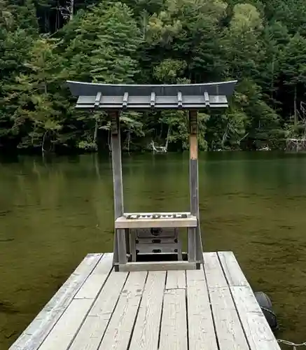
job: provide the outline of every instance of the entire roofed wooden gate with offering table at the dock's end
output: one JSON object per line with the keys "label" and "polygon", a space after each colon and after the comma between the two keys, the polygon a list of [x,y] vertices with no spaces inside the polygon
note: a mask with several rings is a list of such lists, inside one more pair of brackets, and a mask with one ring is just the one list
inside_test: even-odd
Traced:
{"label": "entire roofed wooden gate with offering table at the dock's end", "polygon": [[[76,109],[106,111],[111,118],[115,213],[113,266],[116,271],[200,268],[202,240],[197,167],[197,112],[227,108],[228,97],[232,95],[237,80],[183,85],[115,85],[78,81],[67,83],[71,94],[78,97]],[[189,113],[190,212],[126,213],[123,207],[120,111],[164,109],[187,110]],[[179,228],[188,230],[186,255],[181,252]],[[166,261],[163,253],[169,253],[172,258]]]}

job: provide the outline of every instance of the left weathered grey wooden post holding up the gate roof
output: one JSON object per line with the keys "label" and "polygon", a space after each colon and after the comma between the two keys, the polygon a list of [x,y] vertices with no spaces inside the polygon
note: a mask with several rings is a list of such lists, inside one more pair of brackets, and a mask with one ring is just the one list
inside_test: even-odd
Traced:
{"label": "left weathered grey wooden post holding up the gate roof", "polygon": [[[123,179],[121,166],[119,113],[111,112],[111,159],[113,165],[113,202],[115,220],[123,216]],[[125,230],[116,230],[113,241],[113,265],[127,262]]]}

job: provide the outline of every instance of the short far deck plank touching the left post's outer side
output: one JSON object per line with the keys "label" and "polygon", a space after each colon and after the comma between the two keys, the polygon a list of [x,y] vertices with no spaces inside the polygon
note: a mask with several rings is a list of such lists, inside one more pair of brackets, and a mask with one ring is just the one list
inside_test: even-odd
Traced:
{"label": "short far deck plank touching the left post's outer side", "polygon": [[88,276],[88,279],[83,286],[78,290],[74,299],[95,298],[109,276],[112,268],[113,253],[105,253],[90,276]]}

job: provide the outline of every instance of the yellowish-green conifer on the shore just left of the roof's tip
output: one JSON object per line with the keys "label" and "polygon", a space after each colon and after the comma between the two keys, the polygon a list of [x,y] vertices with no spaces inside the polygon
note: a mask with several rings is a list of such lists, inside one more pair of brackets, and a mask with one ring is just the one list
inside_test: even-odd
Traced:
{"label": "yellowish-green conifer on the shore just left of the roof's tip", "polygon": [[7,97],[15,109],[12,129],[22,138],[18,145],[21,148],[40,147],[42,151],[50,151],[62,127],[62,57],[55,52],[56,46],[55,39],[34,41],[29,60],[24,64],[27,71],[16,77],[13,91]]}

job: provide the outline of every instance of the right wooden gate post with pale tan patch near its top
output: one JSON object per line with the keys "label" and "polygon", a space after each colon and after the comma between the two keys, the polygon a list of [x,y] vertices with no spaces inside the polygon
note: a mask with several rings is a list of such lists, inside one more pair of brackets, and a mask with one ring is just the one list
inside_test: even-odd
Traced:
{"label": "right wooden gate post with pale tan patch near its top", "polygon": [[190,123],[190,213],[197,217],[197,228],[188,230],[188,260],[190,262],[202,260],[202,241],[200,237],[199,220],[199,185],[197,169],[197,111],[189,111]]}

